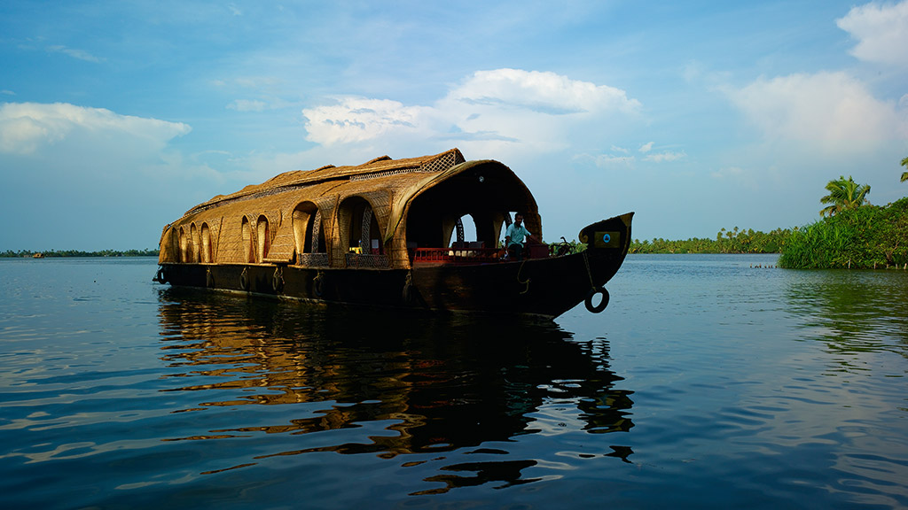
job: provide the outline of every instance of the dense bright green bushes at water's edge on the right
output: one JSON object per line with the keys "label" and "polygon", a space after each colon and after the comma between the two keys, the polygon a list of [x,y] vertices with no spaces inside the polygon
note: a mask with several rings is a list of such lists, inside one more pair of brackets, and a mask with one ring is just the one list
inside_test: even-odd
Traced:
{"label": "dense bright green bushes at water's edge on the right", "polygon": [[841,211],[803,229],[785,243],[780,267],[881,269],[908,264],[908,198],[885,207]]}

